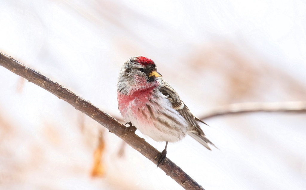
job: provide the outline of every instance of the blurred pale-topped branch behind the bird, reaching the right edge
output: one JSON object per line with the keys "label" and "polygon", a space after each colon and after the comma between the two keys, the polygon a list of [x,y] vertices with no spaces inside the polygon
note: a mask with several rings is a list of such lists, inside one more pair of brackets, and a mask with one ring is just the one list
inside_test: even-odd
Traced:
{"label": "blurred pale-topped branch behind the bird, reaching the right edge", "polygon": [[200,117],[205,120],[212,117],[250,113],[250,112],[306,112],[306,102],[248,102],[219,106]]}

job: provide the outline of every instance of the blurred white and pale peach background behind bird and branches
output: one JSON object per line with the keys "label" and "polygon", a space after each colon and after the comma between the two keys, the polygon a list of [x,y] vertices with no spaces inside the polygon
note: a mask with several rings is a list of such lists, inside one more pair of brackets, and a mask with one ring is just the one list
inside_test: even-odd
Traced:
{"label": "blurred white and pale peach background behind bird and branches", "polygon": [[[230,103],[306,100],[306,3],[298,0],[0,0],[0,51],[117,118],[118,72],[136,55],[153,59],[198,117]],[[190,137],[167,149],[203,188],[305,189],[306,114],[205,122],[220,150]],[[103,126],[0,67],[0,189],[182,189],[129,146],[118,156],[121,147]]]}

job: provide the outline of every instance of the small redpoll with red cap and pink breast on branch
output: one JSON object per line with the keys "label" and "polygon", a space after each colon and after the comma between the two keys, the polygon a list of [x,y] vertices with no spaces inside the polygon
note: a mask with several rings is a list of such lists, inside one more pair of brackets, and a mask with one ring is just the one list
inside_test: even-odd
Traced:
{"label": "small redpoll with red cap and pink breast on branch", "polygon": [[[128,131],[139,129],[158,142],[166,142],[165,149],[156,157],[157,166],[164,163],[168,142],[177,142],[186,134],[211,150],[208,140],[195,117],[177,92],[163,79],[155,63],[146,57],[129,58],[121,68],[118,84],[118,109],[130,124]],[[136,128],[135,128],[136,127]]]}

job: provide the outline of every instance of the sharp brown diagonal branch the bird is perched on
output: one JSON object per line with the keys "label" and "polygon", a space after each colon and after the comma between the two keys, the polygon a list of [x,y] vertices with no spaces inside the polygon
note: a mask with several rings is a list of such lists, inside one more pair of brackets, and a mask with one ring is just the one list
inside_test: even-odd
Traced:
{"label": "sharp brown diagonal branch the bird is perched on", "polygon": [[[84,100],[80,96],[76,95],[72,91],[63,87],[50,78],[47,78],[43,74],[19,63],[12,57],[9,57],[0,52],[0,65],[10,70],[11,72],[24,77],[29,82],[32,82],[45,90],[56,95],[59,99],[68,102],[70,105],[85,113],[99,124],[106,127],[111,133],[114,133],[125,142],[127,142],[133,149],[140,152],[147,159],[151,160],[154,164],[157,164],[155,158],[160,154],[153,146],[148,144],[143,138],[140,138],[135,133],[129,133],[127,135],[122,135],[125,130],[125,126],[111,117],[109,114],[103,112],[96,106],[92,105],[87,100]],[[159,167],[172,177],[178,184],[183,188],[189,190],[203,190],[203,188],[189,177],[180,167],[170,161],[168,158],[165,160],[164,165],[159,165]]]}

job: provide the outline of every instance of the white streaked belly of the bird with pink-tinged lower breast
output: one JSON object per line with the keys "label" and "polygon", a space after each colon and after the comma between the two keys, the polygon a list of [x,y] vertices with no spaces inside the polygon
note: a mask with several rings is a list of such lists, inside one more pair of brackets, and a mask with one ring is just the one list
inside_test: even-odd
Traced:
{"label": "white streaked belly of the bird with pink-tinged lower breast", "polygon": [[177,142],[187,134],[188,124],[169,102],[165,99],[161,101],[164,101],[162,106],[154,102],[142,105],[131,102],[124,119],[155,141]]}

